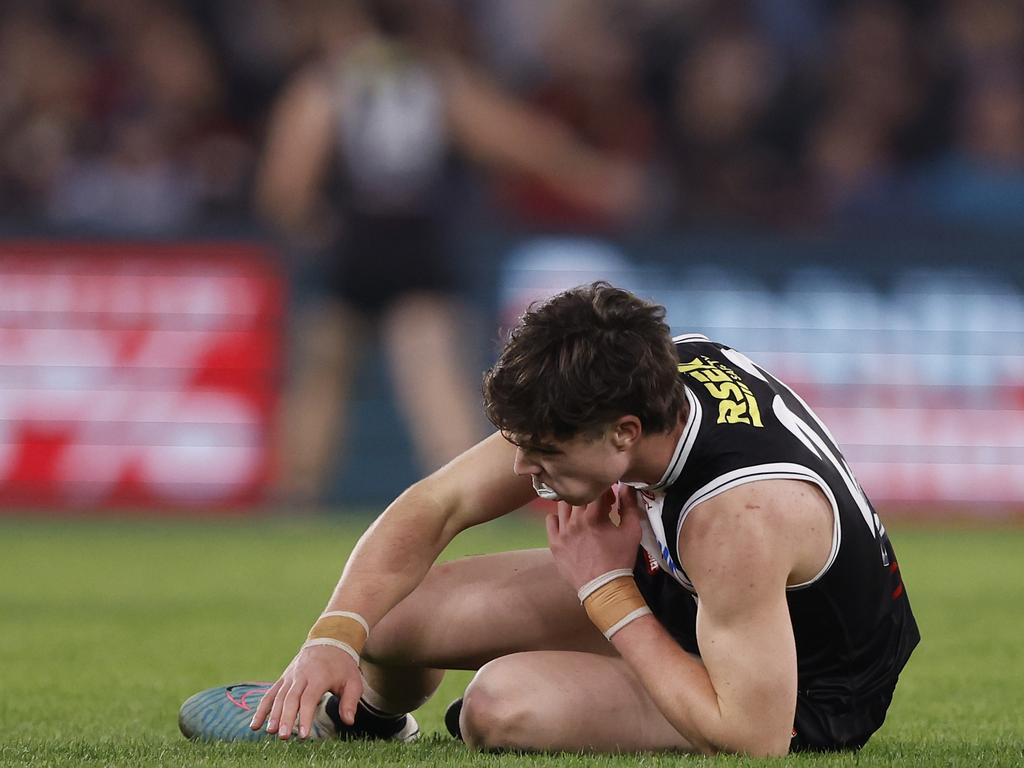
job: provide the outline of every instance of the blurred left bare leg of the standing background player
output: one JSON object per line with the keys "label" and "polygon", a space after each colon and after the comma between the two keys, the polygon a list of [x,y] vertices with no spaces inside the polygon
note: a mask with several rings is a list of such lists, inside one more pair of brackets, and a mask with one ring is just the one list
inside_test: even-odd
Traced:
{"label": "blurred left bare leg of the standing background player", "polygon": [[344,434],[348,395],[365,334],[337,302],[304,311],[295,333],[295,371],[278,426],[279,488],[287,500],[318,501]]}

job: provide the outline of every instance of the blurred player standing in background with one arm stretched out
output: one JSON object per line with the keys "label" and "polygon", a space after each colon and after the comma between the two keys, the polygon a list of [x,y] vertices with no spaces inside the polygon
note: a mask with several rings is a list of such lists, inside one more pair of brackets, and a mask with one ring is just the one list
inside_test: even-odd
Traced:
{"label": "blurred player standing in background with one arm stretched out", "polygon": [[[325,489],[347,392],[368,333],[379,331],[420,463],[434,469],[479,437],[441,206],[452,154],[534,174],[612,214],[639,187],[490,87],[429,38],[421,4],[327,6],[327,53],[274,112],[258,180],[261,209],[296,240],[335,217],[330,301],[299,321],[298,360],[281,424],[286,498]],[[329,169],[343,191],[330,197]]]}

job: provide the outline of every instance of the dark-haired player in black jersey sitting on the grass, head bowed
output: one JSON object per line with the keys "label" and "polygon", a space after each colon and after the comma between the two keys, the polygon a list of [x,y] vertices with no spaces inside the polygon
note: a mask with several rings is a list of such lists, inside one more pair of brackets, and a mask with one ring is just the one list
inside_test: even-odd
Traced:
{"label": "dark-haired player in black jersey sitting on the grass, head bowed", "polygon": [[[783,755],[882,725],[918,627],[793,390],[597,283],[527,311],[484,391],[500,432],[371,526],[252,729],[408,738],[450,668],[479,670],[446,721],[485,749]],[[550,550],[432,566],[535,495],[560,500]],[[230,694],[185,702],[182,731],[254,735]]]}

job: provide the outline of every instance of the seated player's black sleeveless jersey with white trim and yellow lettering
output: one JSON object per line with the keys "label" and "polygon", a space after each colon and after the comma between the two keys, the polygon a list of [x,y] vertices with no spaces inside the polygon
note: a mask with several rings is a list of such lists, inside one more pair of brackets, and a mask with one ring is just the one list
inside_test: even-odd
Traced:
{"label": "seated player's black sleeveless jersey with white trim and yellow lettering", "polygon": [[821,570],[787,588],[798,687],[837,710],[891,690],[920,635],[889,537],[836,440],[799,395],[750,358],[705,336],[675,342],[689,415],[660,481],[638,487],[649,523],[646,560],[664,572],[659,598],[645,590],[655,614],[684,647],[699,652],[698,596],[677,547],[686,516],[742,483],[810,482],[830,503],[835,524]]}

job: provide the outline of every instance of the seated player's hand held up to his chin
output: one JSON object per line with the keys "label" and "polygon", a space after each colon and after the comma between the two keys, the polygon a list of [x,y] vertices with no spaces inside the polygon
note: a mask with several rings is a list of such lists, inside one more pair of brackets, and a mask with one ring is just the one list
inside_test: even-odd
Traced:
{"label": "seated player's hand held up to his chin", "polygon": [[548,546],[558,572],[573,589],[617,568],[631,568],[640,546],[640,509],[633,488],[620,485],[618,525],[611,520],[613,488],[585,507],[558,502],[548,514]]}

